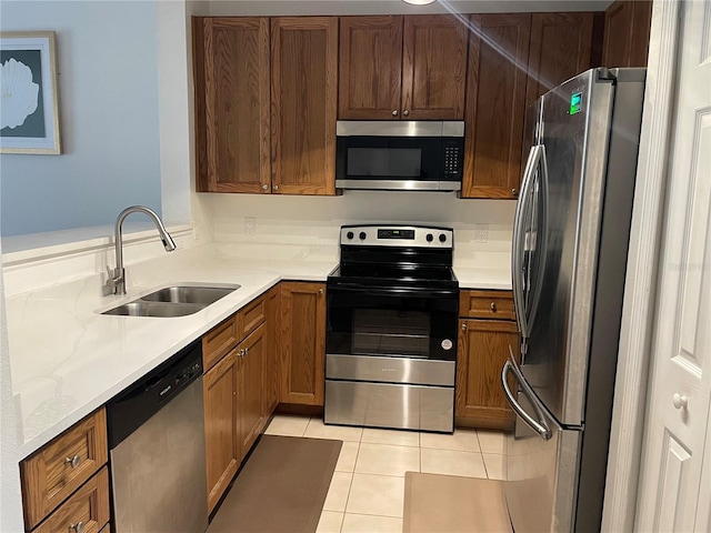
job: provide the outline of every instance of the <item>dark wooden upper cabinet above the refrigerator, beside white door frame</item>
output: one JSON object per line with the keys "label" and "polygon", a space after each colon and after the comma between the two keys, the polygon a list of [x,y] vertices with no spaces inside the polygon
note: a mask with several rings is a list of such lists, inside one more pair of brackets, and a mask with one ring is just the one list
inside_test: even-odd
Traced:
{"label": "dark wooden upper cabinet above the refrigerator, beside white door frame", "polygon": [[647,67],[651,1],[618,0],[604,12],[602,66]]}

